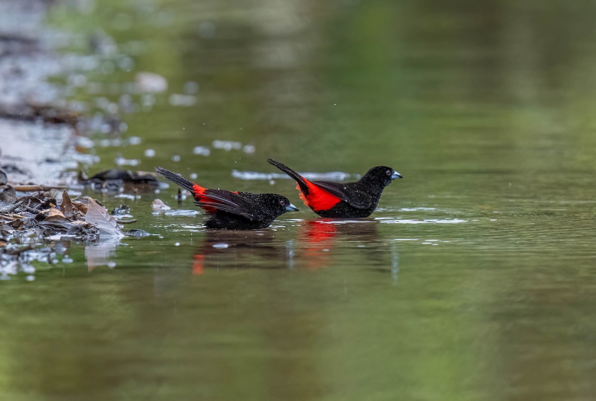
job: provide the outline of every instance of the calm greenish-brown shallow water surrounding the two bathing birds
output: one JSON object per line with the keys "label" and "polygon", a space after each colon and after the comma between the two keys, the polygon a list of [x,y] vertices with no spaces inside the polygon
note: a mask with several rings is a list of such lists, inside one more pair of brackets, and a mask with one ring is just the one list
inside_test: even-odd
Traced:
{"label": "calm greenish-brown shallow water surrounding the two bathing birds", "polygon": [[[89,169],[123,157],[297,206],[267,157],[404,179],[368,219],[300,207],[254,232],[152,215],[156,197],[193,209],[173,186],[99,195],[156,235],[65,243],[72,263],[0,284],[5,397],[592,399],[594,5],[220,3],[55,10],[62,27],[102,24],[123,53],[143,43],[130,72],[91,75],[101,85],[75,97],[122,102],[139,71],[169,85],[123,115],[141,143],[98,133]],[[194,104],[171,105],[185,82]]]}

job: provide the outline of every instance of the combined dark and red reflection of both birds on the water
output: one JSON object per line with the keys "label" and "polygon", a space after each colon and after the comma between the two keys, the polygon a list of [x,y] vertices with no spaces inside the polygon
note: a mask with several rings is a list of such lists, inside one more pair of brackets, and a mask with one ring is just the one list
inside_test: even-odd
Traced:
{"label": "combined dark and red reflection of both birds on the water", "polygon": [[[368,265],[383,265],[383,244],[373,219],[309,219],[296,240],[271,229],[207,230],[193,256],[193,274],[208,269],[322,269],[355,256]],[[286,235],[284,235],[286,234]],[[293,234],[293,233],[292,233]]]}

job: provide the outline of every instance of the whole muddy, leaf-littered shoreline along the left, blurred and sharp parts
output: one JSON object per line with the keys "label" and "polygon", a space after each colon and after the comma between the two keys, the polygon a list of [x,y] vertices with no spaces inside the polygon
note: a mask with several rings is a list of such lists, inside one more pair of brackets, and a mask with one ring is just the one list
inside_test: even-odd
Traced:
{"label": "whole muddy, leaf-littered shoreline along the left, blurred and sharp parts", "polygon": [[69,263],[69,241],[91,245],[92,265],[108,263],[123,237],[120,223],[131,222],[91,197],[71,201],[64,189],[77,185],[81,164],[94,159],[79,152],[90,142],[85,106],[49,81],[79,72],[82,56],[58,51],[68,36],[45,25],[48,7],[42,0],[0,2],[0,279],[35,279],[34,261]]}

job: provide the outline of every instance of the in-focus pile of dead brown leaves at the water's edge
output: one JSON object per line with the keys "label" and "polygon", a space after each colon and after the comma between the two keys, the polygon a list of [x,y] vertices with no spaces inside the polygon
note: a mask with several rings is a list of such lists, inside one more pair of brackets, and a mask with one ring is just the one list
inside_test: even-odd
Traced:
{"label": "in-focus pile of dead brown leaves at the water's edge", "polygon": [[52,188],[17,197],[6,173],[0,170],[0,279],[35,272],[33,260],[57,263],[55,248],[63,246],[58,241],[119,241],[124,236],[121,224],[136,220],[114,214],[118,216],[88,196],[71,200],[66,189],[60,192]]}

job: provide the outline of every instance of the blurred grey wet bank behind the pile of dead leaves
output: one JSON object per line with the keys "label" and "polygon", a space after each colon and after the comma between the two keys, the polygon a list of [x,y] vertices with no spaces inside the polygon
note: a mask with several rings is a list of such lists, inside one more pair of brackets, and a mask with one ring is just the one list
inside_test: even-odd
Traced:
{"label": "blurred grey wet bank behind the pile of dead leaves", "polygon": [[76,63],[57,51],[67,36],[45,26],[48,7],[43,0],[0,3],[0,168],[10,184],[73,184],[79,162],[92,162],[76,149],[82,107],[49,82]]}

